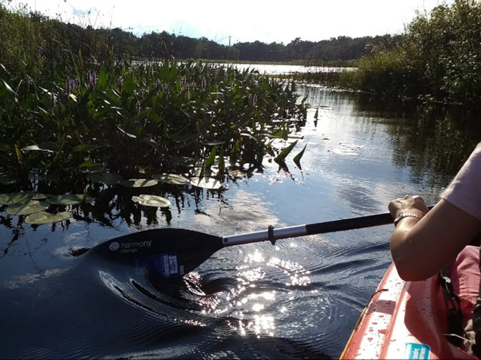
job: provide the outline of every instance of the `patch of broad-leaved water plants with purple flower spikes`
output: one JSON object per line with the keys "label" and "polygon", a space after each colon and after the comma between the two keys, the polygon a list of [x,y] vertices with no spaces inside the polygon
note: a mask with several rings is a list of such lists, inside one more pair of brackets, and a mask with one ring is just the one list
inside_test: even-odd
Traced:
{"label": "patch of broad-leaved water plants with purple flower spikes", "polygon": [[221,178],[236,164],[260,168],[273,151],[267,140],[287,139],[306,115],[292,82],[252,70],[170,61],[77,70],[43,86],[1,72],[0,160],[10,178],[175,172],[179,158],[202,176],[216,163]]}

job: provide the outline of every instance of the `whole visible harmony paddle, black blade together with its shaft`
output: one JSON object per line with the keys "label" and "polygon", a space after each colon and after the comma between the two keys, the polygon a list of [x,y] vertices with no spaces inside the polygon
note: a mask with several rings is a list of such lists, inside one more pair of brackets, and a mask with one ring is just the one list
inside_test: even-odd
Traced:
{"label": "whole visible harmony paddle, black blade together with its shaft", "polygon": [[260,241],[271,241],[274,244],[278,239],[368,228],[392,222],[391,215],[383,213],[287,228],[274,229],[269,226],[267,231],[227,237],[175,228],[154,229],[105,241],[92,248],[89,253],[92,256],[102,256],[108,261],[130,263],[135,267],[152,270],[162,278],[178,278],[192,272],[225,246]]}

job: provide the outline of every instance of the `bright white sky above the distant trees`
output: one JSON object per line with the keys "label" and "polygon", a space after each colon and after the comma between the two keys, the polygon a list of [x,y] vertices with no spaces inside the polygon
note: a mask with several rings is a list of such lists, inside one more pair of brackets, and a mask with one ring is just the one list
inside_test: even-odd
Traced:
{"label": "bright white sky above the distant trees", "polygon": [[228,45],[401,34],[416,11],[454,0],[12,0],[47,16],[136,35],[166,31]]}

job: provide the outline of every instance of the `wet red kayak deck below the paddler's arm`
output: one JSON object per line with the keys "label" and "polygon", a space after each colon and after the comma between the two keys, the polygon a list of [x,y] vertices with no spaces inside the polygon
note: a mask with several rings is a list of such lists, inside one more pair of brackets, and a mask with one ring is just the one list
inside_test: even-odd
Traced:
{"label": "wet red kayak deck below the paddler's arm", "polygon": [[438,277],[405,282],[393,264],[359,317],[341,359],[476,359],[452,345],[443,336],[448,332]]}

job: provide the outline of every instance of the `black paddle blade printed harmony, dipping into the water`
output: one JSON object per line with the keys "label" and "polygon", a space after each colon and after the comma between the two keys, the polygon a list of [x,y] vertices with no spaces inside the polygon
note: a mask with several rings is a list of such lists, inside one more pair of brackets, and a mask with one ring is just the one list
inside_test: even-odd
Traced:
{"label": "black paddle blade printed harmony, dipping into the water", "polygon": [[117,237],[91,248],[88,253],[144,269],[161,278],[179,278],[192,272],[222,247],[221,237],[165,228]]}

